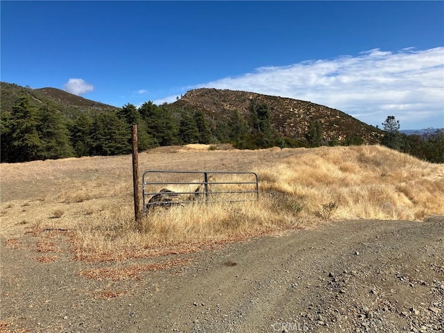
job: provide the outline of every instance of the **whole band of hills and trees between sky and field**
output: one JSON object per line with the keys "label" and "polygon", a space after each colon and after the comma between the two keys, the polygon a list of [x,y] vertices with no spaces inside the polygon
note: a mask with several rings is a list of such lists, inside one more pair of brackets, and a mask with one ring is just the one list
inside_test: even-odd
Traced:
{"label": "whole band of hills and trees between sky and field", "polygon": [[444,133],[402,135],[388,117],[384,130],[323,105],[246,92],[198,89],[175,103],[137,108],[96,103],[55,88],[1,84],[1,162],[121,155],[176,144],[230,143],[235,148],[377,144],[444,162]]}

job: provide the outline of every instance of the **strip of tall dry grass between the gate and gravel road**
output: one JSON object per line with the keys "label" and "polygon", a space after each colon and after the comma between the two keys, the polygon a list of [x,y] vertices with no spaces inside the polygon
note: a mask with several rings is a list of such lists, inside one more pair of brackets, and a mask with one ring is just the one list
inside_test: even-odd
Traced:
{"label": "strip of tall dry grass between the gate and gravel road", "polygon": [[73,238],[78,259],[110,260],[187,253],[289,228],[300,228],[298,203],[266,194],[246,203],[156,207],[136,225],[133,207],[119,205],[80,216]]}

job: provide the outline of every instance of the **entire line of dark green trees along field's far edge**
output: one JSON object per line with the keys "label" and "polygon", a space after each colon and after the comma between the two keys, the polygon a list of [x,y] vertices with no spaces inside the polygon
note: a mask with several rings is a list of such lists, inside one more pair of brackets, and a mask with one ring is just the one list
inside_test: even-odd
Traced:
{"label": "entire line of dark green trees along field's far edge", "polygon": [[[311,121],[303,140],[281,137],[271,126],[271,112],[266,103],[252,100],[248,114],[231,112],[225,121],[205,117],[196,110],[171,109],[151,101],[139,108],[127,104],[114,112],[103,111],[76,119],[43,105],[33,106],[27,96],[17,100],[11,112],[1,112],[1,162],[120,155],[131,151],[130,131],[138,126],[139,150],[175,144],[211,144],[230,142],[240,149],[280,147],[316,147],[359,145],[361,137],[325,141],[319,121]],[[382,144],[431,162],[444,162],[444,133],[403,135],[400,123],[389,116],[382,124]]]}

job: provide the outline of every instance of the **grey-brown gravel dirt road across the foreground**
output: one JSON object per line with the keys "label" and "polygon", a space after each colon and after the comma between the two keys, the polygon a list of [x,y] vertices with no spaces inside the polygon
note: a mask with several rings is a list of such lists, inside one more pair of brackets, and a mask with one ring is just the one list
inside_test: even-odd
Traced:
{"label": "grey-brown gravel dirt road across the foreground", "polygon": [[444,332],[443,217],[101,264],[35,238],[1,239],[4,332]]}

